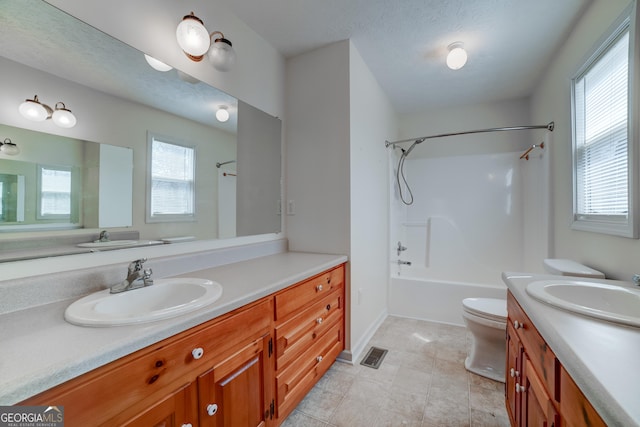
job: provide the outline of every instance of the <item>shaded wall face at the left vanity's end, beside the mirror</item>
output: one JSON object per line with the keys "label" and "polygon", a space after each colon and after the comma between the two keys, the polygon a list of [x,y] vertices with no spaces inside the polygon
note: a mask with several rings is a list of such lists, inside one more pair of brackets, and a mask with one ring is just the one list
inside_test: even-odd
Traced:
{"label": "shaded wall face at the left vanity's end, beside the mirror", "polygon": [[293,251],[349,253],[349,42],[287,61],[286,219]]}

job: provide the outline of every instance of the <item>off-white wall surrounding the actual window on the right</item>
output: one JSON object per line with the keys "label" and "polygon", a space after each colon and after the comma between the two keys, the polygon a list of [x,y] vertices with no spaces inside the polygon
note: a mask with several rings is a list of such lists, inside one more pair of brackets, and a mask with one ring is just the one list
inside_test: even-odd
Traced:
{"label": "off-white wall surrounding the actual window on the right", "polygon": [[[558,50],[532,96],[535,121],[554,120],[551,154],[553,255],[573,258],[604,272],[630,280],[640,271],[640,242],[598,233],[571,230],[571,78],[592,46],[629,4],[629,0],[594,1]],[[637,49],[637,47],[636,47]],[[635,142],[637,144],[637,141]]]}

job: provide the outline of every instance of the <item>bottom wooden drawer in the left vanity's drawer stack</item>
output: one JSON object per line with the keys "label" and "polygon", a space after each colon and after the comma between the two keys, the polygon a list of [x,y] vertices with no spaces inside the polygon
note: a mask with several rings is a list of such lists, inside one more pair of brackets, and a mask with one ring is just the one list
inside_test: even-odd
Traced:
{"label": "bottom wooden drawer in the left vanity's drawer stack", "polygon": [[293,410],[344,349],[343,332],[336,325],[276,376],[278,418]]}

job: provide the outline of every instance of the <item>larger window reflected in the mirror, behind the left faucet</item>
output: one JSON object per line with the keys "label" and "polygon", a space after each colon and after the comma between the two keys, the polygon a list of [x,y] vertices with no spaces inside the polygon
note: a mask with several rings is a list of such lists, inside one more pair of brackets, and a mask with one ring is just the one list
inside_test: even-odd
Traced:
{"label": "larger window reflected in the mirror, behind the left faucet", "polygon": [[149,163],[147,221],[195,219],[195,150],[150,135]]}

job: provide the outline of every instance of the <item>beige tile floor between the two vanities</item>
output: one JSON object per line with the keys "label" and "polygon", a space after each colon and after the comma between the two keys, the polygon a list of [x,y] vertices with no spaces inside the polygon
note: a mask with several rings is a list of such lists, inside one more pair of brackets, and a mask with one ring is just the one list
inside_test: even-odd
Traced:
{"label": "beige tile floor between the two vanities", "polygon": [[464,368],[469,340],[464,327],[389,316],[366,346],[389,350],[380,368],[336,362],[282,426],[509,426],[504,385]]}

